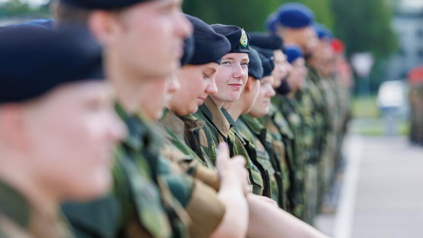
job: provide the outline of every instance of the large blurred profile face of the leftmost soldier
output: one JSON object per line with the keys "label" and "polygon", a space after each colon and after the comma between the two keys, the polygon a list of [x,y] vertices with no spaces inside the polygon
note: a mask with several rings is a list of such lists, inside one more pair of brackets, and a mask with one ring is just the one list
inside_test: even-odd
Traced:
{"label": "large blurred profile face of the leftmost soldier", "polygon": [[113,109],[107,82],[58,86],[29,102],[26,113],[28,163],[42,187],[62,199],[108,192],[114,145],[126,136],[126,127]]}

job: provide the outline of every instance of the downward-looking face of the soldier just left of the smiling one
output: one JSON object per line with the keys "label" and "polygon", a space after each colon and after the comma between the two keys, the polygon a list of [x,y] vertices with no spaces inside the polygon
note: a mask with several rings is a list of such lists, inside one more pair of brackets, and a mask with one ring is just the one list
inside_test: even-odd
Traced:
{"label": "downward-looking face of the soldier just left of the smiling one", "polygon": [[215,76],[219,65],[187,65],[178,74],[180,90],[175,92],[169,108],[179,116],[188,115],[198,110],[208,95],[217,93]]}

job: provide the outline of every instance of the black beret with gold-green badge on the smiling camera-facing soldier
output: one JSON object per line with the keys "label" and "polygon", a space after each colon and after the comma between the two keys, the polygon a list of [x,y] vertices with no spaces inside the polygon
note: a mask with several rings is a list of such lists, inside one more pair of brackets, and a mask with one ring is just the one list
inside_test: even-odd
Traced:
{"label": "black beret with gold-green badge on the smiling camera-facing soldier", "polygon": [[250,36],[244,29],[234,25],[213,24],[210,26],[229,40],[231,50],[228,53],[250,53]]}

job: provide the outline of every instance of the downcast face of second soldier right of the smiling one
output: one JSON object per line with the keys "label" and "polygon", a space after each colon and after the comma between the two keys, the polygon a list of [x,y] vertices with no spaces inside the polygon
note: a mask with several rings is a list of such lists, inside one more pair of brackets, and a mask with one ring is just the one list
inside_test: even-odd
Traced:
{"label": "downcast face of second soldier right of the smiling one", "polygon": [[276,95],[272,84],[273,76],[267,76],[260,80],[260,92],[250,111],[252,117],[258,118],[269,113],[270,99]]}

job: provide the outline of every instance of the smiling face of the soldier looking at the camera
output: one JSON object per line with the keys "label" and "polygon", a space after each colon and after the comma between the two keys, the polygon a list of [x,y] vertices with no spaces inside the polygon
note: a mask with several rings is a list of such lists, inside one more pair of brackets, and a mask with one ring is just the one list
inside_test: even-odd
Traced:
{"label": "smiling face of the soldier looking at the camera", "polygon": [[218,93],[213,96],[220,102],[236,102],[239,99],[248,78],[248,63],[246,53],[229,53],[223,56],[222,63],[216,74]]}

